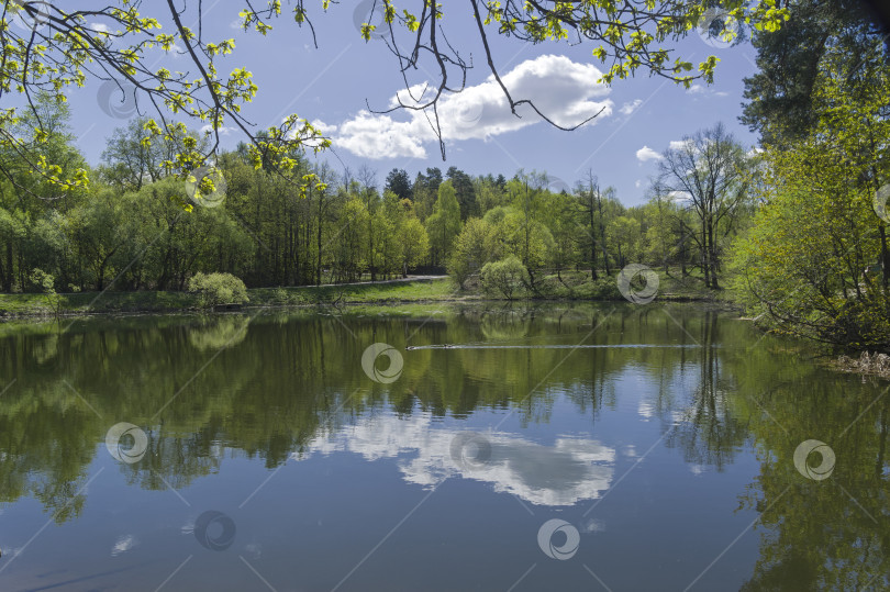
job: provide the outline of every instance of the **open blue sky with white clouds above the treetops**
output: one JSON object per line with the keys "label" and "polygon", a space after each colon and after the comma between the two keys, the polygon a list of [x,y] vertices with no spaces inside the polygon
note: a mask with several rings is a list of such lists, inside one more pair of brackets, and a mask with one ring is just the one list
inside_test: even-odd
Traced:
{"label": "open blue sky with white clouds above the treetops", "polygon": [[[755,52],[747,42],[715,47],[693,32],[677,45],[678,54],[693,63],[708,55],[721,59],[712,86],[699,83],[685,90],[643,74],[604,87],[596,82],[600,65],[591,56],[592,45],[523,44],[498,38],[492,30],[492,52],[514,98],[535,99],[543,111],[564,124],[603,109],[592,123],[563,132],[533,113],[521,120],[509,113],[500,90],[487,82],[490,72],[469,14],[459,13],[463,7],[446,7],[452,11],[446,21],[448,40],[468,63],[472,58],[474,68],[468,71],[465,92],[443,102],[447,137],[447,160],[443,163],[436,142],[416,115],[367,112],[366,100],[375,110],[386,109],[404,87],[385,43],[365,43],[359,37],[357,5],[344,1],[327,13],[315,11],[318,49],[309,29],[298,27],[287,16],[274,22],[275,30],[263,37],[233,27],[236,5],[218,0],[204,7],[205,40],[234,37],[236,42],[235,52],[220,69],[244,66],[259,87],[257,98],[245,109],[247,119],[265,127],[296,112],[322,124],[334,139],[336,156],[321,158],[337,169],[345,165],[355,171],[367,164],[378,171],[382,183],[393,167],[407,169],[412,178],[433,166],[443,171],[456,166],[471,175],[501,172],[508,177],[525,168],[546,170],[575,185],[591,168],[601,185],[615,187],[619,199],[632,205],[644,201],[647,179],[657,171],[657,153],[670,142],[719,121],[745,146],[756,142],[737,121],[742,80],[755,71]],[[432,65],[427,63],[427,67]],[[412,72],[412,83],[424,80],[434,79],[422,70]],[[99,161],[105,136],[125,123],[125,115],[132,115],[115,113],[109,100],[108,88],[103,92],[96,81],[70,96],[77,144],[93,164]],[[225,145],[233,147],[240,139],[233,132]]]}

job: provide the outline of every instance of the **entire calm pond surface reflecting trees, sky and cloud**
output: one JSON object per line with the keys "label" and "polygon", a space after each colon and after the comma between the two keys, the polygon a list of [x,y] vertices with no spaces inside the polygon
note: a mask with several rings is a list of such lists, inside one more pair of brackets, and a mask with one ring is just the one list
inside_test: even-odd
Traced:
{"label": "entire calm pond surface reflecting trees, sky and cloud", "polygon": [[885,590],[887,386],[698,304],[0,326],[2,590]]}

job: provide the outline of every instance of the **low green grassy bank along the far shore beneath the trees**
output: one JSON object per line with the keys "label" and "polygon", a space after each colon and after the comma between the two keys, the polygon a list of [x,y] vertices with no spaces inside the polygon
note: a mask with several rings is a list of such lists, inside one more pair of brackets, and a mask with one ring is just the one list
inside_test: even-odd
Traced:
{"label": "low green grassy bank along the far shore beneath the trees", "polygon": [[[659,271],[657,300],[709,301],[732,303],[732,294],[703,288],[696,276],[680,278],[677,273]],[[591,281],[589,273],[564,272],[536,279],[536,294],[524,294],[520,300],[622,300],[614,277]],[[457,289],[448,278],[418,279],[389,283],[358,283],[347,286],[302,286],[294,288],[253,288],[247,308],[255,306],[341,306],[352,304],[392,304],[410,302],[461,302],[499,300],[483,293],[478,282],[470,280],[466,288]],[[197,294],[188,292],[80,292],[59,294],[55,301],[65,316],[115,313],[165,313],[199,310]],[[55,303],[44,294],[0,294],[0,319],[54,315]]]}

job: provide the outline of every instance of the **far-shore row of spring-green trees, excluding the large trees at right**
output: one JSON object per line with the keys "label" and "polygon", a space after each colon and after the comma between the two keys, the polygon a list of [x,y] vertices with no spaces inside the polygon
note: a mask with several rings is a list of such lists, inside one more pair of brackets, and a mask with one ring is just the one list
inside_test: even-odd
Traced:
{"label": "far-shore row of spring-green trees, excluding the large trees at right", "polygon": [[[54,122],[45,144],[53,158],[86,166],[65,103],[38,102],[44,126]],[[255,166],[244,145],[216,161],[221,199],[190,200],[164,167],[175,144],[146,145],[144,125],[136,118],[111,133],[88,188],[57,196],[25,167],[16,183],[2,185],[3,291],[40,291],[47,275],[60,292],[183,290],[193,275],[214,271],[267,287],[447,270],[463,287],[508,257],[521,261],[531,290],[545,273],[561,280],[585,270],[597,280],[639,261],[700,269],[717,287],[728,241],[749,217],[748,156],[722,125],[668,149],[649,200],[630,208],[593,171],[575,188],[546,172],[508,179],[456,167],[413,179],[393,169],[380,183],[367,166],[335,171],[301,153],[296,172],[281,175],[274,161]],[[23,136],[29,130],[24,122]],[[693,164],[717,183],[686,179]]]}

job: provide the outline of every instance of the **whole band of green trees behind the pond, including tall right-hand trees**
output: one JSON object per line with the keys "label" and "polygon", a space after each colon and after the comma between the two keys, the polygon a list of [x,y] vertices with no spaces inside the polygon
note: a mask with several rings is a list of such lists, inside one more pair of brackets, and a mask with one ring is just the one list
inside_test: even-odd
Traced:
{"label": "whole band of green trees behind the pond, including tall right-hand trees", "polygon": [[[642,263],[732,288],[772,328],[890,349],[890,52],[855,3],[788,10],[781,29],[752,31],[759,71],[745,80],[739,119],[759,146],[746,149],[720,123],[691,133],[659,155],[634,206],[592,170],[574,187],[542,171],[456,167],[413,179],[393,169],[380,181],[304,148],[251,145],[213,163],[224,200],[190,200],[178,155],[212,138],[176,127],[145,142],[152,123],[134,119],[90,168],[64,96],[35,93],[5,133],[53,163],[56,180],[0,146],[0,288],[182,290],[213,271],[299,286],[419,270],[447,270],[466,288],[500,265],[515,279],[509,290],[535,294],[545,278],[596,282]],[[59,190],[78,175],[84,182]],[[212,196],[203,183],[199,197]]]}

